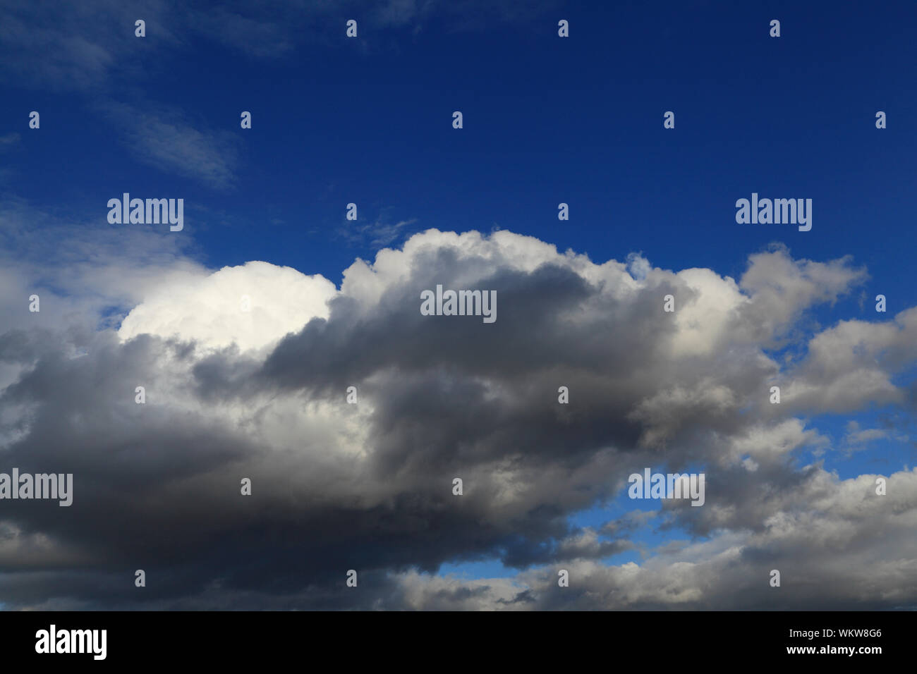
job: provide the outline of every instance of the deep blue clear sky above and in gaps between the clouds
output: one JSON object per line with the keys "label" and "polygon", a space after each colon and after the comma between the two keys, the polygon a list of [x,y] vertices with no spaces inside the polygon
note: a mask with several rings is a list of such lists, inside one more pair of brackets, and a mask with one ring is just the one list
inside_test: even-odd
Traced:
{"label": "deep blue clear sky above and in gaps between the clouds", "polygon": [[[0,194],[115,233],[124,226],[105,222],[109,198],[182,197],[183,245],[207,267],[265,260],[337,285],[355,258],[431,227],[509,229],[596,262],[642,253],[662,269],[736,280],[773,243],[796,259],[853,256],[867,282],[813,309],[800,328],[808,335],[917,304],[917,7],[547,3],[509,16],[467,7],[388,24],[348,7],[249,42],[206,31],[171,39],[159,24],[135,39],[123,25],[117,61],[85,85],[6,77],[0,137],[19,138],[0,153]],[[349,18],[358,39],[345,37]],[[569,39],[558,38],[561,18]],[[779,39],[768,35],[774,18]],[[170,28],[168,14],[160,20]],[[243,110],[251,129],[239,127]],[[674,129],[663,128],[669,110]],[[879,110],[888,128],[876,128]],[[144,152],[153,128],[171,129],[187,154]],[[811,198],[812,230],[736,224],[736,199],[753,192]],[[351,202],[356,223],[345,219]],[[558,221],[560,202],[569,221]],[[886,315],[874,311],[878,293]],[[912,372],[899,383],[911,381]],[[852,421],[888,424],[899,439],[846,451]],[[848,479],[913,463],[912,420],[900,409],[808,422],[831,442],[803,451],[801,465],[823,460]],[[620,496],[570,524],[656,507]],[[651,523],[631,540],[690,538]],[[441,571],[513,573],[491,559]]]}

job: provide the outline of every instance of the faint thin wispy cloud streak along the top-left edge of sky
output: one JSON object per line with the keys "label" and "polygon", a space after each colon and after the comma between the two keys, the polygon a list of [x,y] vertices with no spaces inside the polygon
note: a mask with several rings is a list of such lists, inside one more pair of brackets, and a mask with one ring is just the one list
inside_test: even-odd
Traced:
{"label": "faint thin wispy cloud streak along the top-left edge of sky", "polygon": [[[253,59],[274,60],[316,39],[337,41],[348,18],[359,17],[370,30],[410,25],[416,31],[427,21],[447,17],[473,30],[491,21],[535,20],[556,5],[553,0],[525,7],[483,0],[230,0],[201,8],[179,0],[147,0],[140,6],[117,0],[0,0],[0,77],[19,86],[98,92],[113,83],[142,79],[151,67],[138,59],[147,43],[165,43],[172,52],[158,53],[158,64],[152,66],[157,68],[169,67],[202,39]],[[146,22],[143,40],[134,35],[137,19]]]}

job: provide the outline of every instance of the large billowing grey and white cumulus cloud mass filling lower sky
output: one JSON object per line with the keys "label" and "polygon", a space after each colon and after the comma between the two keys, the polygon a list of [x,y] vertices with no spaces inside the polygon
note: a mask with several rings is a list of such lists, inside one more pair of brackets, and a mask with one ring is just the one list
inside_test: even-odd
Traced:
{"label": "large billowing grey and white cumulus cloud mass filling lower sky", "polygon": [[[61,317],[38,339],[18,316],[0,334],[14,373],[4,464],[75,485],[68,509],[5,504],[11,606],[760,608],[776,605],[775,568],[796,588],[780,607],[914,603],[915,473],[885,476],[878,496],[878,476],[800,461],[830,440],[799,414],[897,404],[917,360],[914,310],[801,329],[865,278],[852,260],[770,249],[735,280],[430,229],[356,260],[339,289],[266,262],[160,261],[118,292],[131,303],[118,327],[74,332]],[[60,273],[97,288],[88,271]],[[497,321],[421,315],[436,284],[496,291]],[[787,344],[800,359],[774,358]],[[780,405],[775,379],[790,382]],[[702,466],[705,505],[570,524],[660,463]],[[687,539],[646,549],[647,527]],[[639,563],[604,561],[629,550]],[[436,575],[483,558],[515,575]],[[157,579],[142,596],[137,568]],[[341,591],[347,569],[359,593]]]}

